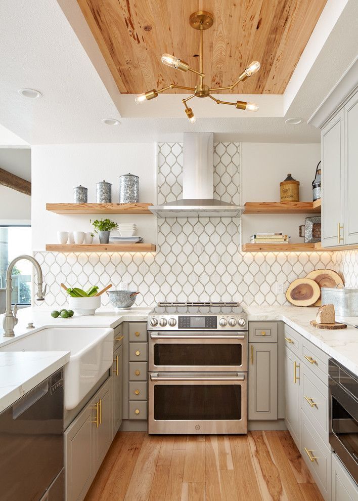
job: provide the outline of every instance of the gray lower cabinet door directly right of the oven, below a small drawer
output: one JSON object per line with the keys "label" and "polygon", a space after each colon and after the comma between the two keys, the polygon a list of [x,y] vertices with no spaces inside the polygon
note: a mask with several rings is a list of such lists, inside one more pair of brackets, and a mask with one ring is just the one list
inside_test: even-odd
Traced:
{"label": "gray lower cabinet door directly right of the oven, below a small drawer", "polygon": [[277,419],[277,343],[249,343],[249,420]]}

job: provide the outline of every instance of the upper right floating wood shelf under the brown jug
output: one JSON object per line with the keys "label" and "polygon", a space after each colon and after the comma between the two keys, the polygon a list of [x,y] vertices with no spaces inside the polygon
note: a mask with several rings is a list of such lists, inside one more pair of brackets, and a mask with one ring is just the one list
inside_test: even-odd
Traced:
{"label": "upper right floating wood shelf under the brown jug", "polygon": [[[318,200],[316,200],[318,202]],[[315,202],[246,202],[244,214],[319,214]]]}

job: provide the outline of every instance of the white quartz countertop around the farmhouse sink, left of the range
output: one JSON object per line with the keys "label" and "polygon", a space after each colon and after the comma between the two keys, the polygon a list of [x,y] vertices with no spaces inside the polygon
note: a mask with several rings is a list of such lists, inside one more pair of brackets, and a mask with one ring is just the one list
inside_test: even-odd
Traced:
{"label": "white quartz countertop around the farmhouse sink, left of the range", "polygon": [[[100,308],[95,315],[71,318],[53,318],[51,311],[61,308],[29,307],[18,311],[19,322],[14,328],[15,337],[3,336],[3,316],[0,315],[0,347],[14,340],[30,336],[38,330],[48,327],[110,327],[123,321],[147,321],[151,308],[132,308],[119,311]],[[28,329],[32,322],[34,328]],[[18,398],[47,379],[53,372],[65,365],[70,359],[70,352],[0,352],[0,412],[12,405]]]}

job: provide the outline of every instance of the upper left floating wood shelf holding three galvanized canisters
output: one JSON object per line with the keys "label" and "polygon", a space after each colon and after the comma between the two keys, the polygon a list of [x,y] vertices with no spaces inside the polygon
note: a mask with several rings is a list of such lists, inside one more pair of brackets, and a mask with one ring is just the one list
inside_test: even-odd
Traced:
{"label": "upper left floating wood shelf holding three galvanized canisters", "polygon": [[152,203],[47,203],[56,214],[152,214]]}

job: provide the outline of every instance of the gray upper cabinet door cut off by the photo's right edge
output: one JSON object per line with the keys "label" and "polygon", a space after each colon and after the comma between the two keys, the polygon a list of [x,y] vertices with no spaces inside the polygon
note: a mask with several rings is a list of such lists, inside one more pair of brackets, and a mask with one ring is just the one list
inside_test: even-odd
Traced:
{"label": "gray upper cabinet door cut off by the photo's right edge", "polygon": [[358,243],[358,92],[344,106],[344,243]]}

